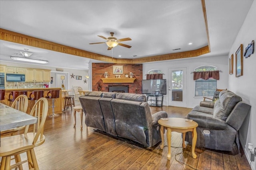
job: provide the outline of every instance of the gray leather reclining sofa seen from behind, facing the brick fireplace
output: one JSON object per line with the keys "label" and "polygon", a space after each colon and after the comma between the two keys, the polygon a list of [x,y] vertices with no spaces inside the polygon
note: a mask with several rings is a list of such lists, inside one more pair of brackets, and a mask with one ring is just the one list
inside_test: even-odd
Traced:
{"label": "gray leather reclining sofa seen from behind, facing the brick fireplace", "polygon": [[152,147],[161,141],[158,120],[165,111],[151,114],[143,94],[86,92],[80,96],[85,124],[112,136],[136,141]]}

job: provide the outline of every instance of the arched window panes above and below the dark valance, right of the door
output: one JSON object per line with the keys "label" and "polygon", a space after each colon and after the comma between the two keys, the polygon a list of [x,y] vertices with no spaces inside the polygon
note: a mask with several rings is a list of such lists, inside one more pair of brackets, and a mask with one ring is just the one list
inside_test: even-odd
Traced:
{"label": "arched window panes above and below the dark valance, right of the door", "polygon": [[[195,71],[214,71],[217,67],[204,65],[195,68]],[[203,80],[202,78],[195,81],[195,96],[213,96],[217,88],[217,80],[209,78],[209,80]]]}

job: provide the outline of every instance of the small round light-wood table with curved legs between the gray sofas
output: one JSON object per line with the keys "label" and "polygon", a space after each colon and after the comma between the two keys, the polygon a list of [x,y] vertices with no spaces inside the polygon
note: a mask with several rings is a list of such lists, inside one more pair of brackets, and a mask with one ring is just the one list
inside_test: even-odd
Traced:
{"label": "small round light-wood table with curved legs between the gray sofas", "polygon": [[161,133],[161,139],[162,143],[160,145],[160,148],[164,148],[164,129],[167,129],[167,145],[168,145],[168,154],[167,159],[171,159],[171,137],[172,137],[172,131],[182,133],[182,147],[185,148],[185,134],[186,132],[192,132],[192,156],[193,158],[196,158],[195,154],[195,147],[196,147],[196,127],[198,127],[198,124],[195,121],[186,121],[186,119],[182,118],[176,118],[176,117],[169,117],[168,120],[162,120],[159,119],[158,123],[161,125],[160,133]]}

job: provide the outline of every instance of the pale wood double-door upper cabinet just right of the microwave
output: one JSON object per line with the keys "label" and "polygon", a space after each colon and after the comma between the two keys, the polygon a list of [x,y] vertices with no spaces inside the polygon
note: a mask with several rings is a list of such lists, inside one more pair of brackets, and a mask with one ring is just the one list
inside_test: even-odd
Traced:
{"label": "pale wood double-door upper cabinet just right of the microwave", "polygon": [[43,82],[43,70],[26,68],[26,82]]}

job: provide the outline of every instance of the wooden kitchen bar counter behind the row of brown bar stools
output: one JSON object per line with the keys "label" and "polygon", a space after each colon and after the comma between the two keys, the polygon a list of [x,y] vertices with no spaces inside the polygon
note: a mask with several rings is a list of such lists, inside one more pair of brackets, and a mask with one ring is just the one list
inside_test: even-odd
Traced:
{"label": "wooden kitchen bar counter behind the row of brown bar stools", "polygon": [[[44,97],[47,96],[47,93],[50,90],[60,90],[60,98],[54,99],[54,113],[62,113],[62,89],[61,88],[12,88],[12,89],[5,89],[5,100],[1,100],[0,103],[5,104],[7,106],[11,106],[13,102],[8,101],[9,94],[10,92],[13,91],[28,91],[28,97],[32,91],[39,91],[43,90],[44,91]],[[30,110],[34,106],[35,101],[34,100],[28,100],[28,109],[26,113],[30,113]],[[49,107],[52,107],[52,99],[48,99],[48,105]],[[63,106],[64,107],[64,106]],[[48,115],[52,114],[52,109],[48,109]]]}

